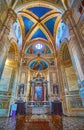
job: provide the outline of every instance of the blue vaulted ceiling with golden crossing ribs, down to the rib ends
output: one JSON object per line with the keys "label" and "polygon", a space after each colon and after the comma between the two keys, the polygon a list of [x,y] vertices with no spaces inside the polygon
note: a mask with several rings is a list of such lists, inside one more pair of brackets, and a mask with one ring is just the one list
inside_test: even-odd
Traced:
{"label": "blue vaulted ceiling with golden crossing ribs, down to the rib ends", "polygon": [[18,11],[18,20],[25,46],[33,41],[45,41],[51,44],[55,52],[55,40],[62,13],[58,9],[42,4],[28,5]]}

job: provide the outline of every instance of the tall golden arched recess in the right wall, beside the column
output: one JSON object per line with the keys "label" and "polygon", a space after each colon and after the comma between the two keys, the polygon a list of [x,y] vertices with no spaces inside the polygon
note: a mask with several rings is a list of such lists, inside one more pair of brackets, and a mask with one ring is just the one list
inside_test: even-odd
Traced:
{"label": "tall golden arched recess in the right wall, beside the column", "polygon": [[78,90],[77,75],[74,66],[72,64],[72,59],[66,42],[62,43],[61,45],[60,57],[61,57],[62,72],[64,75],[63,79],[66,81],[66,85],[64,86],[66,86],[68,91]]}

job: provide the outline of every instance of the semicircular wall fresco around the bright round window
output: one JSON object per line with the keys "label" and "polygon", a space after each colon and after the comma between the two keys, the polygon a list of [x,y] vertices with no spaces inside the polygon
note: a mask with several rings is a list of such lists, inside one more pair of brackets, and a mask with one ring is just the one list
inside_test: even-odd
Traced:
{"label": "semicircular wall fresco around the bright round window", "polygon": [[[41,48],[37,48],[36,45],[42,45],[42,47]],[[43,44],[36,44],[36,45],[31,45],[26,50],[25,53],[26,54],[52,54],[50,48],[47,45],[43,45]]]}

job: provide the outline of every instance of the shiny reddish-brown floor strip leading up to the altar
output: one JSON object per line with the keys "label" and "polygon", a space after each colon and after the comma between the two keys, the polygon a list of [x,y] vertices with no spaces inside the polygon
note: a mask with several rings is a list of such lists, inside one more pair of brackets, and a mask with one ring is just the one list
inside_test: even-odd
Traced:
{"label": "shiny reddish-brown floor strip leading up to the altar", "polygon": [[63,130],[62,118],[56,115],[20,116],[16,122],[16,130]]}

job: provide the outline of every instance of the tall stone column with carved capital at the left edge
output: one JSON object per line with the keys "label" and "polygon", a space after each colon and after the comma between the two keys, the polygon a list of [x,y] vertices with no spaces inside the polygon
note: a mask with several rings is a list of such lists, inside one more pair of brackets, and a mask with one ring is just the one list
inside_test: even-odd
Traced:
{"label": "tall stone column with carved capital at the left edge", "polygon": [[0,33],[0,78],[3,72],[4,64],[7,58],[7,52],[10,46],[8,35],[13,22],[16,20],[16,14],[12,9],[8,10],[7,19]]}

